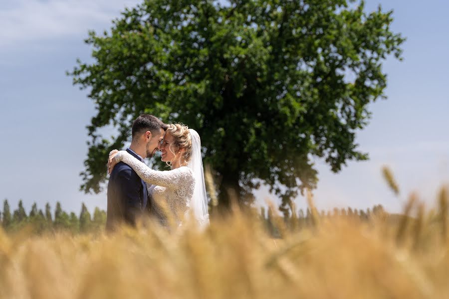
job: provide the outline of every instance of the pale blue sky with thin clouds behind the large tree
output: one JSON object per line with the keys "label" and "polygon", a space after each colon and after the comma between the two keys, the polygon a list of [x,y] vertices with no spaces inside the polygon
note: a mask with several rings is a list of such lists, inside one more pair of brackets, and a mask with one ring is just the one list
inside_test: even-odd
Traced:
{"label": "pale blue sky with thin clouds behind the large tree", "polygon": [[[0,2],[0,199],[29,211],[36,201],[78,212],[81,202],[106,208],[105,193],[79,192],[87,153],[85,126],[95,114],[85,91],[65,76],[75,59],[90,60],[83,43],[89,29],[108,29],[125,6],[138,0],[7,0]],[[317,160],[319,208],[367,208],[382,204],[397,212],[411,191],[429,206],[449,182],[449,3],[367,0],[394,9],[392,28],[407,37],[404,61],[384,63],[388,100],[371,105],[370,125],[357,135],[370,160],[349,162],[334,174]],[[391,166],[400,198],[388,189],[382,165]],[[256,195],[274,199],[266,188]],[[305,207],[304,198],[297,205]]]}

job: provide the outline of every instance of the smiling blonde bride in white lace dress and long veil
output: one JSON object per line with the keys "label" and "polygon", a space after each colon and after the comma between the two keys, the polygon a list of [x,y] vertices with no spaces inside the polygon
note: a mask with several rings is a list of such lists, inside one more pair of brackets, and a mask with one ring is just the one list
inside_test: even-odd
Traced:
{"label": "smiling blonde bride in white lace dress and long veil", "polygon": [[131,166],[147,183],[152,214],[168,225],[167,212],[178,225],[194,215],[200,226],[209,223],[208,200],[204,182],[201,140],[198,133],[181,124],[169,125],[159,145],[162,161],[171,170],[157,171],[133,157],[126,150],[109,153],[109,172],[120,161]]}

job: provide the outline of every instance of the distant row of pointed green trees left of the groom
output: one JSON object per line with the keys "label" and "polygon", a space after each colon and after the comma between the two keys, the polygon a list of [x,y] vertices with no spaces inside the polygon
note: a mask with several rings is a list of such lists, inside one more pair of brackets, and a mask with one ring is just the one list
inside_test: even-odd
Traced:
{"label": "distant row of pointed green trees left of the groom", "polygon": [[51,206],[47,202],[45,211],[37,209],[37,204],[34,203],[27,214],[21,200],[17,208],[12,211],[8,200],[5,199],[0,216],[1,226],[7,232],[29,227],[35,233],[64,230],[77,234],[101,230],[106,224],[105,211],[96,207],[91,216],[84,203],[81,205],[79,215],[62,210],[60,202],[56,203],[54,213],[51,212]]}

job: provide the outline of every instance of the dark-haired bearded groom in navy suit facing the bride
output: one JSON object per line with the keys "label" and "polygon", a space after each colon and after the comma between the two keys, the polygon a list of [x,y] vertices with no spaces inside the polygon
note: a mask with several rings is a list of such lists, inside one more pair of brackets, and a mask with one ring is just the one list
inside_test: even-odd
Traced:
{"label": "dark-haired bearded groom in navy suit facing the bride", "polygon": [[[167,125],[153,115],[141,115],[132,127],[132,142],[126,149],[136,159],[152,157],[164,138]],[[135,226],[142,212],[148,211],[146,183],[124,162],[112,170],[108,183],[108,211],[106,229],[111,231],[117,224]]]}

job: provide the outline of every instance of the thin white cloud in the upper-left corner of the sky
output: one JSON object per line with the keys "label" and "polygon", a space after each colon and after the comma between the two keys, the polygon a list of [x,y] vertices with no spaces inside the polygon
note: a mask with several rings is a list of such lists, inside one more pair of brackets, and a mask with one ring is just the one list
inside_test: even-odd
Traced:
{"label": "thin white cloud in the upper-left corner of the sky", "polygon": [[89,29],[107,29],[125,7],[139,0],[15,0],[0,8],[2,49],[73,35]]}

